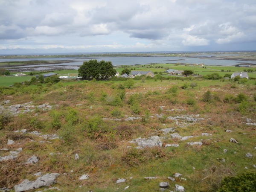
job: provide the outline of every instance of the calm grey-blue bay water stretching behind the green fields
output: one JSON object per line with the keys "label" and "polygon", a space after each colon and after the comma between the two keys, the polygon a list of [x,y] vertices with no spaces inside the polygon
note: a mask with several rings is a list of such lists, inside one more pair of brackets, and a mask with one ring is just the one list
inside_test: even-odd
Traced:
{"label": "calm grey-blue bay water stretching behind the green fields", "polygon": [[[206,56],[206,55],[204,55]],[[216,55],[207,55],[209,57]],[[84,61],[90,59],[97,59],[98,61],[111,61],[114,66],[117,65],[135,65],[135,64],[206,64],[206,65],[236,65],[241,63],[256,64],[256,61],[241,61],[241,60],[225,60],[221,58],[206,59],[201,58],[201,55],[197,57],[97,57],[97,58],[31,58],[31,59],[0,59],[1,62],[8,61],[62,61],[61,64],[37,64],[37,65],[26,65],[21,67],[8,67],[9,69],[23,69],[29,70],[52,70],[52,68],[58,69],[78,69]],[[69,61],[69,62],[68,62]],[[70,62],[72,61],[72,62]]]}

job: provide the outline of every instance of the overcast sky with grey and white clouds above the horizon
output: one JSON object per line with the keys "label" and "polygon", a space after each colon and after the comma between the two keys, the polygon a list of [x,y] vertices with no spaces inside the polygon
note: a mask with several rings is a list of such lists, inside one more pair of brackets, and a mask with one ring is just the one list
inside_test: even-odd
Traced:
{"label": "overcast sky with grey and white clouds above the horizon", "polygon": [[0,0],[0,54],[256,50],[256,0]]}

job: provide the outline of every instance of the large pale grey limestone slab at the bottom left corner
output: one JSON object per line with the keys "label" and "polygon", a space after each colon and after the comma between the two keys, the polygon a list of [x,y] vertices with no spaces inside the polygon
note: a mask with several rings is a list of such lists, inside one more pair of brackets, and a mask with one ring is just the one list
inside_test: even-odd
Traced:
{"label": "large pale grey limestone slab at the bottom left corner", "polygon": [[55,183],[55,179],[59,175],[60,174],[58,173],[51,173],[51,174],[47,173],[46,175],[42,175],[41,177],[38,177],[35,181],[30,181],[25,179],[22,183],[14,186],[15,192],[34,190],[42,186],[52,185]]}

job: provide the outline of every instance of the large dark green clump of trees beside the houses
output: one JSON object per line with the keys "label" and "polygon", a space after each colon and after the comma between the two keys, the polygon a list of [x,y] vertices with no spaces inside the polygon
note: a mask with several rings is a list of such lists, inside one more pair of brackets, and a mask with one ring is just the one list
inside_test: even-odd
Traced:
{"label": "large dark green clump of trees beside the houses", "polygon": [[107,79],[116,74],[111,61],[97,61],[96,59],[84,61],[78,69],[83,79]]}

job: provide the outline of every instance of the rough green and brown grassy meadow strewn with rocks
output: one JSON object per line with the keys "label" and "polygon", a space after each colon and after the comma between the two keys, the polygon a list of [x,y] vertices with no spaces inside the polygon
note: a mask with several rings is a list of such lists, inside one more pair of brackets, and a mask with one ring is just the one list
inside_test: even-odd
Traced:
{"label": "rough green and brown grassy meadow strewn with rocks", "polygon": [[[165,70],[153,66],[135,68]],[[216,70],[222,74],[221,67],[172,65],[169,68],[193,68],[202,74]],[[225,70],[232,73],[237,68]],[[13,87],[3,87],[0,81],[0,85],[0,148],[23,149],[15,160],[0,162],[0,187],[13,189],[24,179],[35,180],[34,174],[42,172],[59,173],[53,186],[64,192],[153,192],[159,191],[162,181],[168,181],[172,191],[178,184],[187,192],[215,192],[224,177],[256,173],[253,167],[256,126],[246,124],[248,119],[256,122],[255,79],[239,84],[229,79],[140,77],[35,82]],[[10,105],[28,102],[34,106],[30,107],[32,111],[20,107],[20,113],[13,116],[7,110]],[[51,105],[52,109],[37,107],[42,104]],[[172,128],[173,132],[161,131],[166,128]],[[14,132],[22,129],[57,134],[60,138],[49,140]],[[193,137],[180,140],[172,138],[174,133]],[[130,142],[151,136],[158,136],[163,146],[137,148],[136,143]],[[230,138],[238,143],[231,143]],[[7,145],[8,140],[14,140],[15,144]],[[189,145],[189,142],[202,142],[202,145]],[[167,144],[179,146],[164,147]],[[253,157],[246,157],[246,153]],[[79,154],[78,160],[75,154]],[[7,155],[8,151],[0,151],[0,157]],[[39,157],[39,161],[24,164],[32,155]],[[177,172],[182,176],[174,182],[168,179]],[[79,180],[84,174],[89,179]],[[126,181],[117,184],[119,178]],[[36,191],[44,188],[48,187]]]}

